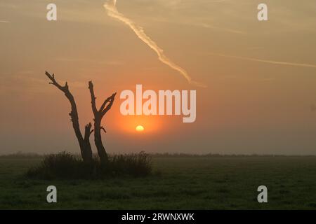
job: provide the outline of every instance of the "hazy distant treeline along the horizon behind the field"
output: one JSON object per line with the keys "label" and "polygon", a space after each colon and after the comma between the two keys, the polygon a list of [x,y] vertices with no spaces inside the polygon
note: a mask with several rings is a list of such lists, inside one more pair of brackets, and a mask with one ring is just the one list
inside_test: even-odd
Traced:
{"label": "hazy distant treeline along the horizon behind the field", "polygon": [[[129,154],[129,153],[125,153]],[[190,154],[190,153],[147,153],[152,158],[241,158],[241,157],[291,157],[291,156],[305,156],[312,157],[315,155],[272,155],[272,154],[219,154],[219,153],[207,153],[207,154]],[[0,155],[0,158],[7,159],[29,159],[29,158],[44,158],[47,154],[39,154],[39,153],[11,153],[7,155]],[[80,158],[80,155],[77,153],[73,153],[76,157]],[[117,155],[117,154],[110,154]]]}

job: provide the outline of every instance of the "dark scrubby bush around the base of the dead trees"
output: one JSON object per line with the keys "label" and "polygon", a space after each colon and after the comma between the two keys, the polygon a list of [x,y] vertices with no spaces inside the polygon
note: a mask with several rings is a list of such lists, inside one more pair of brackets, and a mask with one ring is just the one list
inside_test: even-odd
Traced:
{"label": "dark scrubby bush around the base of the dead trees", "polygon": [[105,165],[98,158],[86,163],[67,152],[46,155],[38,167],[26,173],[36,179],[105,179],[111,176],[147,176],[152,172],[151,158],[144,152],[111,155]]}

